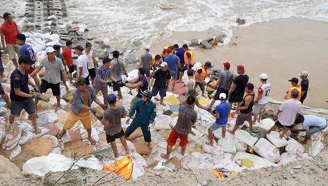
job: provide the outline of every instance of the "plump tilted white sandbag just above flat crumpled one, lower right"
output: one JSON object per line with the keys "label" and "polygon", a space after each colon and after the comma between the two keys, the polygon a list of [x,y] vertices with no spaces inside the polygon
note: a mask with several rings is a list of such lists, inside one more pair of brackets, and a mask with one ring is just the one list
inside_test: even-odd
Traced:
{"label": "plump tilted white sandbag just above flat crumpled one, lower right", "polygon": [[254,146],[254,151],[261,155],[262,158],[270,160],[271,162],[279,162],[279,149],[271,144],[268,140],[260,138]]}

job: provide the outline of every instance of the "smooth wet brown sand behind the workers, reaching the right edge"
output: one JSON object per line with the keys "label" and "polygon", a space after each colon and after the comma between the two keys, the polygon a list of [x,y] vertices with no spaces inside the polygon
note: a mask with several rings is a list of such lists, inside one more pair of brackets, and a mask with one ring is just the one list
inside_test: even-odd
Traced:
{"label": "smooth wet brown sand behind the workers, reaching the right edge", "polygon": [[[214,49],[194,49],[197,62],[211,61],[222,69],[223,62],[244,65],[246,74],[258,87],[259,74],[268,74],[272,84],[270,97],[284,101],[290,87],[288,79],[299,78],[302,70],[309,72],[309,90],[304,105],[328,109],[328,22],[290,17],[234,28],[229,44]],[[172,33],[165,41],[158,40],[151,51],[161,51],[163,46],[174,42],[180,45],[192,38],[208,38],[219,35],[218,31]],[[236,43],[236,44],[233,44]],[[256,90],[257,92],[257,90]]]}

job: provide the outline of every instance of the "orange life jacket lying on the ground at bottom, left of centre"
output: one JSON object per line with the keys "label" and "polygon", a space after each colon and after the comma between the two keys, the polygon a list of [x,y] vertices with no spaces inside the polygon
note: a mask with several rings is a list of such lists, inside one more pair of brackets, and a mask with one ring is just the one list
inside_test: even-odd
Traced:
{"label": "orange life jacket lying on the ground at bottom, left of centre", "polygon": [[108,164],[108,167],[103,167],[103,170],[120,174],[126,180],[130,180],[133,171],[132,158],[129,156],[124,156],[122,159]]}

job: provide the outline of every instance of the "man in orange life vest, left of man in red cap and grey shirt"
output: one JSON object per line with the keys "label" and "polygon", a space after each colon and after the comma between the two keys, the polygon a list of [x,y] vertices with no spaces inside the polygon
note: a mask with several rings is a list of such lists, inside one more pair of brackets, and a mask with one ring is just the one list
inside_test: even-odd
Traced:
{"label": "man in orange life vest, left of man in red cap and grey shirt", "polygon": [[195,88],[199,86],[200,90],[202,90],[202,96],[204,98],[207,98],[205,95],[205,85],[206,82],[204,81],[206,76],[208,76],[208,69],[212,67],[211,62],[205,62],[205,65],[202,65],[201,67],[197,68],[196,74],[195,74]]}

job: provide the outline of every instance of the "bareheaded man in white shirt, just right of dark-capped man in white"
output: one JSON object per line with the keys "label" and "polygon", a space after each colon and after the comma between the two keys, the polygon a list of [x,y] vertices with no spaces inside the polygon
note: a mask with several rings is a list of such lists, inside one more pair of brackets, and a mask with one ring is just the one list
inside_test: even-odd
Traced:
{"label": "bareheaded man in white shirt, just right of dark-capped man in white", "polygon": [[91,47],[91,43],[87,42],[85,44],[85,50],[82,53],[88,57],[88,72],[93,86],[96,78],[97,60],[95,53],[91,50]]}

